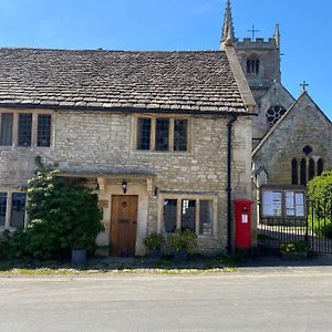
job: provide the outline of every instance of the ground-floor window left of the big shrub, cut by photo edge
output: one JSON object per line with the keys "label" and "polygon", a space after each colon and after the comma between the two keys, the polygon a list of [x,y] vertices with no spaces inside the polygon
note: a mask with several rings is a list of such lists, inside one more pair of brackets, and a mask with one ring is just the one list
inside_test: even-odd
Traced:
{"label": "ground-floor window left of the big shrub, cut by photo edge", "polygon": [[27,194],[24,193],[0,193],[0,227],[24,227],[25,205]]}

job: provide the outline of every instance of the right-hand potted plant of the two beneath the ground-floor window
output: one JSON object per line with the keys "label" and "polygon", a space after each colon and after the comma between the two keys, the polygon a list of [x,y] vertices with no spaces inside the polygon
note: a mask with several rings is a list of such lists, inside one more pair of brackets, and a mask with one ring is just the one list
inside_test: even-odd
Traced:
{"label": "right-hand potted plant of the two beneath the ground-floor window", "polygon": [[175,249],[176,260],[187,260],[188,252],[197,248],[197,236],[194,231],[186,229],[168,237],[168,243]]}

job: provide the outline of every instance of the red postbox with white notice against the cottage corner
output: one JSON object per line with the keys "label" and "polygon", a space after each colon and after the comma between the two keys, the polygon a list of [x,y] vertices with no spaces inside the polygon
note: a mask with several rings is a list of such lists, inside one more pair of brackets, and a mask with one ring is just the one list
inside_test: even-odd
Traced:
{"label": "red postbox with white notice against the cottage corner", "polygon": [[251,248],[251,205],[250,199],[235,199],[236,248]]}

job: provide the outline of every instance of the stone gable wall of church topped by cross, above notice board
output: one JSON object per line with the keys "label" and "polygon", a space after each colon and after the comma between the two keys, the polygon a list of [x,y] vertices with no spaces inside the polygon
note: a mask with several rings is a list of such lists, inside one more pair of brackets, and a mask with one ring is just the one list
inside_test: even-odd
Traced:
{"label": "stone gable wall of church topped by cross, above notice board", "polygon": [[[309,156],[302,151],[305,145],[313,149]],[[322,158],[324,168],[332,168],[332,125],[307,93],[258,145],[253,163],[256,169],[266,169],[268,184],[291,185],[293,158]]]}

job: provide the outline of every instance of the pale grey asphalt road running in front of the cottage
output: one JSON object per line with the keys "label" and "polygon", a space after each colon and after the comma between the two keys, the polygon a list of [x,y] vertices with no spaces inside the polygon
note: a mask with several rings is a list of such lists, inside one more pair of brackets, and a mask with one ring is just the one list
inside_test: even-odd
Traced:
{"label": "pale grey asphalt road running in front of the cottage", "polygon": [[332,268],[0,278],[0,331],[332,331]]}

